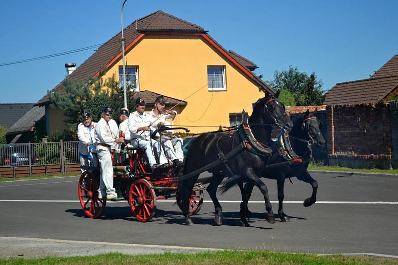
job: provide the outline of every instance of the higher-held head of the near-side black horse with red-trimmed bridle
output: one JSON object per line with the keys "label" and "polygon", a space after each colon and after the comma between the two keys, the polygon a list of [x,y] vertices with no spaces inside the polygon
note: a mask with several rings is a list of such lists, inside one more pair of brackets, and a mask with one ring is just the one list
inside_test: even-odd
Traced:
{"label": "higher-held head of the near-side black horse with red-trimmed bridle", "polygon": [[278,101],[280,90],[275,95],[266,95],[262,100],[264,104],[263,121],[264,124],[275,124],[286,133],[293,128],[293,123],[286,114],[285,105]]}

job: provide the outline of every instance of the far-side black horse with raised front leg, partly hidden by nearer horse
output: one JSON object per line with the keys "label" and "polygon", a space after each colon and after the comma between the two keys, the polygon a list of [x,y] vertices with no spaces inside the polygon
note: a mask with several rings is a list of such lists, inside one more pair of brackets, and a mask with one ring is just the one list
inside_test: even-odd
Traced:
{"label": "far-side black horse with raised front leg, partly hidden by nearer horse", "polygon": [[[307,171],[307,167],[311,158],[310,144],[314,142],[318,146],[323,146],[325,143],[325,139],[320,132],[323,126],[322,123],[317,120],[315,116],[310,114],[308,110],[304,114],[299,115],[294,120],[293,124],[293,129],[289,133],[290,145],[293,152],[297,156],[301,157],[302,163],[287,164],[281,167],[270,168],[264,172],[265,175],[262,175],[266,178],[277,180],[279,201],[278,214],[282,222],[289,221],[289,216],[287,216],[283,211],[283,199],[285,197],[284,185],[286,178],[297,177],[299,180],[309,183],[312,186],[312,195],[310,198],[305,199],[303,204],[305,207],[308,207],[315,203],[318,183],[311,177],[311,175],[309,175]],[[278,154],[277,143],[275,143],[273,147],[274,153]],[[284,161],[286,161],[286,157],[283,157],[283,155],[278,155],[272,159],[271,163],[281,163]],[[241,217],[241,225],[249,226],[246,220],[246,217],[250,215],[250,211],[247,209],[247,203],[250,199],[255,184],[253,182],[247,182],[243,189],[242,179],[232,180],[227,182],[221,191],[224,193],[236,184],[239,185],[239,188],[242,192],[242,202],[240,204],[239,212]]]}

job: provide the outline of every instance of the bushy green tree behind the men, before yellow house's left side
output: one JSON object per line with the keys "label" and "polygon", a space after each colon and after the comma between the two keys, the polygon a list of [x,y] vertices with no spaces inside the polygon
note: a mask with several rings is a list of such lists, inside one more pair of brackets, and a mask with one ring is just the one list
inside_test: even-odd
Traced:
{"label": "bushy green tree behind the men, before yellow house's left side", "polygon": [[[91,78],[85,84],[73,82],[66,77],[63,81],[66,94],[62,97],[56,91],[48,92],[51,101],[50,107],[63,110],[64,115],[68,117],[65,123],[69,127],[69,130],[63,133],[54,133],[50,137],[51,140],[76,140],[77,126],[81,122],[84,111],[89,111],[93,116],[93,120],[98,121],[103,106],[112,106],[116,115],[119,113],[120,108],[124,107],[123,89],[119,88],[119,82],[115,75],[106,80],[102,79],[102,75]],[[128,78],[127,81],[129,81]],[[134,106],[135,82],[132,83],[128,82],[126,87],[127,106]],[[116,120],[116,117],[113,118]]]}

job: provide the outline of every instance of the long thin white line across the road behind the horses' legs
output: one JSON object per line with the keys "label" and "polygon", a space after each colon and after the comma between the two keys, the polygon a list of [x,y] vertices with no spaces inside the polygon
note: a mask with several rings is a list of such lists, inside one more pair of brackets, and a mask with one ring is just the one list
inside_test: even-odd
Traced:
{"label": "long thin white line across the road behind the horses' legs", "polygon": [[[45,200],[45,199],[0,199],[0,201],[9,202],[80,202],[80,200]],[[126,200],[107,201],[107,202],[125,202]],[[174,199],[157,200],[157,202],[176,202]],[[203,200],[203,202],[212,202],[211,200]],[[240,200],[219,200],[224,203],[240,203]],[[278,200],[271,200],[272,203],[278,203]],[[263,200],[252,200],[249,203],[264,203]],[[298,203],[300,200],[285,200],[283,203]],[[316,201],[316,204],[398,204],[398,201]]]}

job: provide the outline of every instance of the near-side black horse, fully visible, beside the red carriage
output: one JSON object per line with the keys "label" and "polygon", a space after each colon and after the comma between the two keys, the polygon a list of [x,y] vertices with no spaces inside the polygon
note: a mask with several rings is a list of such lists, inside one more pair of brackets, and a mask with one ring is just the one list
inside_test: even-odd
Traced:
{"label": "near-side black horse, fully visible, beside the red carriage", "polygon": [[[242,144],[244,141],[239,133],[230,135],[206,133],[200,135],[191,143],[184,164],[184,175],[199,170],[216,160],[222,160],[224,162],[207,169],[208,172],[212,173],[212,178],[206,190],[214,203],[214,219],[217,225],[222,224],[222,207],[216,198],[217,187],[225,177],[231,175],[243,176],[244,179],[253,181],[253,183],[260,188],[264,195],[266,210],[268,211],[267,220],[271,223],[275,222],[272,205],[268,198],[267,186],[258,176],[263,176],[263,168],[269,163],[272,157],[272,149],[267,148],[270,143],[271,126],[277,125],[287,132],[293,127],[293,123],[285,113],[285,106],[278,102],[278,96],[279,91],[275,96],[266,96],[259,99],[249,118],[249,126],[253,125],[251,126],[252,135],[255,140],[258,141],[258,144],[264,147],[264,150],[269,149],[269,153],[254,152],[254,148],[252,148],[251,145]],[[244,145],[245,148],[241,149],[228,160],[223,157],[223,155],[226,155],[232,150],[236,150],[236,147],[239,145]],[[249,148],[251,149],[249,150]],[[178,184],[176,199],[180,209],[185,215],[186,225],[193,225],[189,215],[189,198],[191,197],[193,187],[198,177],[199,173],[189,178],[180,179],[181,181]]]}

